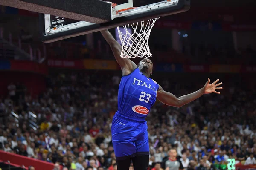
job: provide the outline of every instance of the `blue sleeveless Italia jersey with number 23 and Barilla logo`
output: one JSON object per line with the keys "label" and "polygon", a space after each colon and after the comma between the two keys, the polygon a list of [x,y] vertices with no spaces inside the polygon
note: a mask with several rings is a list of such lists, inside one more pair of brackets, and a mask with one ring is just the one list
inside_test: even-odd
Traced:
{"label": "blue sleeveless Italia jersey with number 23 and Barilla logo", "polygon": [[134,118],[145,119],[157,99],[159,85],[136,68],[122,76],[118,91],[118,111]]}

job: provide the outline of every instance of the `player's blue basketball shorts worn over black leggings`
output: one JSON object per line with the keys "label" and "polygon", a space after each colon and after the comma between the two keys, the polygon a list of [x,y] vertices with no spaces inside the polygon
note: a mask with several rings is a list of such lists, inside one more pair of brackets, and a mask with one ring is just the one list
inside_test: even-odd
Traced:
{"label": "player's blue basketball shorts worn over black leggings", "polygon": [[111,133],[116,160],[149,155],[147,121],[116,112]]}

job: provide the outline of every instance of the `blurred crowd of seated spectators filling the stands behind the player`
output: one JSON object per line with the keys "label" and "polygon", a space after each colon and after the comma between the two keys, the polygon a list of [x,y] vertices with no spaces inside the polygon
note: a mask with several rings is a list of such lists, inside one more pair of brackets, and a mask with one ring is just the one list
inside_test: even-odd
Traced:
{"label": "blurred crowd of seated spectators filling the stands behind the player", "polygon": [[[26,94],[24,86],[17,96],[17,85],[11,84],[9,95],[0,98],[0,149],[55,163],[55,170],[60,165],[65,170],[116,170],[111,119],[120,78],[101,72],[58,74],[37,98]],[[201,88],[155,80],[176,96]],[[152,170],[165,170],[171,148],[185,170],[226,170],[232,159],[256,164],[256,92],[236,85],[226,91],[181,108],[154,104],[146,119]],[[29,112],[36,115],[37,128],[30,126]]]}

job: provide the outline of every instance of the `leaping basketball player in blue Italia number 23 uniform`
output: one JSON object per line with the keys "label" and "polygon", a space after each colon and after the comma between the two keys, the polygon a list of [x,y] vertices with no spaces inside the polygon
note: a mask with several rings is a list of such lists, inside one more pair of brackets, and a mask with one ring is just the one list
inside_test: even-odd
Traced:
{"label": "leaping basketball player in blue Italia number 23 uniform", "polygon": [[118,170],[129,170],[131,160],[134,170],[147,170],[149,162],[149,144],[147,122],[150,108],[156,99],[169,106],[181,107],[199,98],[203,94],[216,92],[222,83],[210,83],[208,78],[204,87],[196,92],[176,98],[166,92],[154,80],[153,63],[142,59],[138,66],[129,58],[121,58],[121,46],[108,30],[101,31],[122,69],[122,79],[118,91],[118,111],[113,117],[111,133]]}

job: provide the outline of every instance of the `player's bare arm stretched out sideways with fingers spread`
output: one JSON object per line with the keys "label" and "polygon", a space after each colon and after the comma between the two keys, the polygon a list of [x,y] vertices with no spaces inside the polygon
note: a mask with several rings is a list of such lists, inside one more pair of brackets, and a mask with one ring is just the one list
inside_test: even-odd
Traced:
{"label": "player's bare arm stretched out sideways with fingers spread", "polygon": [[175,97],[175,95],[173,95],[172,93],[164,91],[163,88],[159,85],[159,89],[157,91],[157,99],[161,101],[163,104],[169,106],[182,107],[183,105],[188,104],[191,101],[194,101],[195,99],[201,97],[204,94],[209,94],[212,92],[220,94],[220,92],[216,92],[216,90],[222,89],[222,87],[217,87],[222,84],[216,84],[218,81],[219,79],[213,82],[212,84],[209,84],[210,79],[208,78],[208,81],[206,82],[202,89],[188,95],[183,95],[179,98]]}

